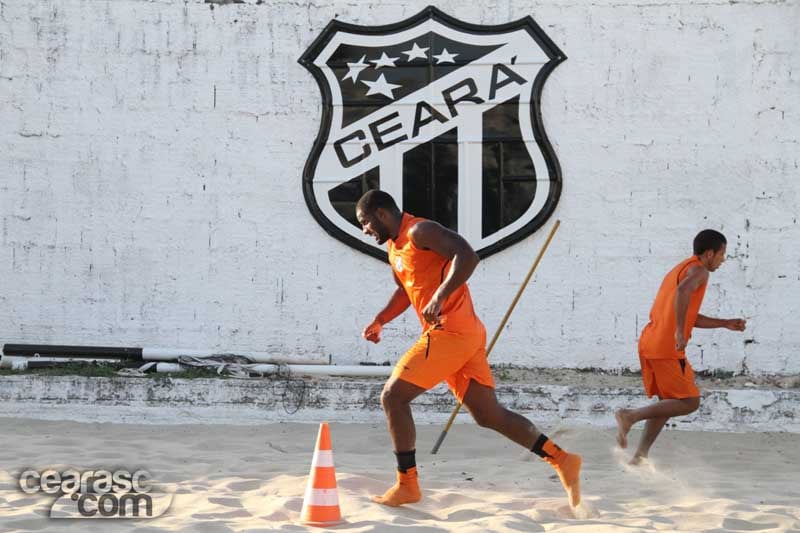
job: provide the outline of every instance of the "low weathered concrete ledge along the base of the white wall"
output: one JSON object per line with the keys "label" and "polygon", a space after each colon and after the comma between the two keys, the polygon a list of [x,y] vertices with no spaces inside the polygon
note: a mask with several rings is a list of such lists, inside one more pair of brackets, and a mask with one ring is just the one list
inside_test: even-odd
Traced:
{"label": "low weathered concrete ledge along the base of the white wall", "polygon": [[[266,380],[0,377],[0,416],[79,422],[261,424],[267,422],[383,423],[382,380]],[[620,407],[648,403],[641,388],[500,383],[501,403],[537,423],[614,425]],[[414,402],[420,423],[444,423],[455,407],[443,385]],[[700,409],[674,419],[705,431],[800,433],[800,390],[707,389]],[[470,422],[464,410],[457,422]]]}

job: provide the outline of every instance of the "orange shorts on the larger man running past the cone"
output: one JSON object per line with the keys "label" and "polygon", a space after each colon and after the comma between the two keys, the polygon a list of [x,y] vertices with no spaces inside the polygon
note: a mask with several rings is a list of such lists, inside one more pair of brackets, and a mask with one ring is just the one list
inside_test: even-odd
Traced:
{"label": "orange shorts on the larger man running past the cone", "polygon": [[459,402],[464,400],[471,379],[494,388],[486,359],[486,330],[456,333],[432,329],[423,333],[397,362],[392,377],[425,390],[446,381]]}

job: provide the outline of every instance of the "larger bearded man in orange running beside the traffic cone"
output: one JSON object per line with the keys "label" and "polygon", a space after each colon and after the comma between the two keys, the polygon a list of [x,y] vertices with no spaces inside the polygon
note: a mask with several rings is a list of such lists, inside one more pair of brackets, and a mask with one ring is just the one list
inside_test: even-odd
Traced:
{"label": "larger bearded man in orange running beside the traffic cone", "polygon": [[398,209],[392,197],[367,192],[356,206],[365,234],[387,243],[397,289],[362,336],[379,342],[384,324],[413,306],[422,335],[398,361],[381,394],[397,458],[397,483],[373,501],[396,507],[422,499],[411,401],[446,381],[478,425],[494,429],[547,461],[570,505],[580,503],[579,455],[567,453],[527,418],[497,402],[486,359],[486,330],[475,314],[467,279],[478,264],[469,243],[431,220]]}

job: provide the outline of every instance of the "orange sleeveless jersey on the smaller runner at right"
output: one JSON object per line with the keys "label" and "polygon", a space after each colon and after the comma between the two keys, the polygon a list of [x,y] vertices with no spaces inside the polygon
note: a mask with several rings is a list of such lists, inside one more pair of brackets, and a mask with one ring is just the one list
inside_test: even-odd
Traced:
{"label": "orange sleeveless jersey on the smaller runner at right", "polygon": [[[650,322],[644,327],[639,337],[639,355],[645,359],[683,359],[686,357],[684,352],[675,349],[675,329],[677,327],[675,296],[678,293],[678,284],[686,277],[689,267],[692,265],[703,266],[697,256],[692,256],[670,270],[664,281],[661,282],[656,301],[650,310]],[[706,285],[708,282],[703,283],[689,296],[684,329],[687,342],[692,336],[692,328],[700,313],[700,304],[703,303]]]}

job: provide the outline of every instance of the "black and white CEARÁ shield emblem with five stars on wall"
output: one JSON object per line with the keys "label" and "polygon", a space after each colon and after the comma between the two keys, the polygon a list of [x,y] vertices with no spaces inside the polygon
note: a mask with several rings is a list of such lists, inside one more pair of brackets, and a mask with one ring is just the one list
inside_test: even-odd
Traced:
{"label": "black and white CEAR\u00c1 shield emblem with five stars on wall", "polygon": [[300,58],[322,91],[303,172],[314,218],[381,259],[355,217],[370,189],[457,231],[481,257],[530,235],[561,194],[539,97],[565,59],[530,17],[480,26],[428,7],[389,26],[332,21]]}

